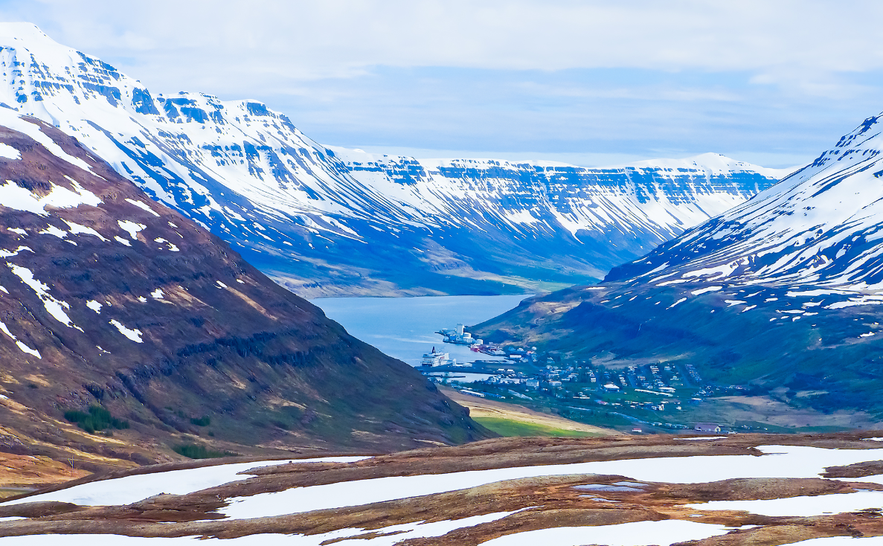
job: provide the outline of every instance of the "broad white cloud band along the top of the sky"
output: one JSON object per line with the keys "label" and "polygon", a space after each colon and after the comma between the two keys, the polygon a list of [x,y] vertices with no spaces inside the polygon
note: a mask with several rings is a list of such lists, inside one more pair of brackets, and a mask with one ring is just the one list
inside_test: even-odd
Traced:
{"label": "broad white cloud band along the top of the sky", "polygon": [[[513,70],[652,68],[856,71],[883,68],[874,40],[883,4],[781,0],[32,0],[57,39],[102,54],[120,49],[249,59],[295,79],[345,77],[371,66]],[[106,56],[106,55],[105,55]]]}

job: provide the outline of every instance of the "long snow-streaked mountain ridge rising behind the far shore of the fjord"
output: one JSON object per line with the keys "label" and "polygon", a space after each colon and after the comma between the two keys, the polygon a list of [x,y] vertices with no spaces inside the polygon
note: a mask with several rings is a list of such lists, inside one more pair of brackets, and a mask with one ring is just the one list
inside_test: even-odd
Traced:
{"label": "long snow-streaked mountain ridge rising behind the far shore of the fjord", "polygon": [[54,124],[303,295],[572,284],[781,174],[716,155],[612,169],[322,146],[255,101],[153,94],[33,25],[0,24],[0,102]]}

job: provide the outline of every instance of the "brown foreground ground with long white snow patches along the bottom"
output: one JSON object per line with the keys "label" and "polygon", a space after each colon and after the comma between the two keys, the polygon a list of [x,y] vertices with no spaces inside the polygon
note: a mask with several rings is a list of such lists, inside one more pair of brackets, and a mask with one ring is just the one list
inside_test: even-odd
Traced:
{"label": "brown foreground ground with long white snow patches along the bottom", "polygon": [[[571,538],[545,543],[608,543],[593,537],[635,529],[649,534],[622,540],[778,545],[883,536],[883,444],[873,438],[507,438],[349,462],[282,461],[238,481],[109,505],[88,488],[111,491],[124,482],[91,477],[78,490],[0,504],[0,537],[88,534],[95,544],[102,537],[214,537],[239,545],[290,535],[286,544],[296,546],[357,538],[354,544],[462,546],[541,543],[548,533]],[[161,482],[174,468],[207,464],[215,463],[135,472]],[[676,530],[677,540],[665,530]]]}

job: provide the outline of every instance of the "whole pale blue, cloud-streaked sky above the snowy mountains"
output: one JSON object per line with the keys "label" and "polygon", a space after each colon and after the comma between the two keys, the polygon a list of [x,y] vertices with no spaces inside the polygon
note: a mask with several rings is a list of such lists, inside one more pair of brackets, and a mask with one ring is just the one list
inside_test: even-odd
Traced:
{"label": "whole pale blue, cloud-streaked sky above the snowy mountains", "polygon": [[153,94],[328,145],[587,166],[812,161],[883,111],[883,2],[0,0]]}

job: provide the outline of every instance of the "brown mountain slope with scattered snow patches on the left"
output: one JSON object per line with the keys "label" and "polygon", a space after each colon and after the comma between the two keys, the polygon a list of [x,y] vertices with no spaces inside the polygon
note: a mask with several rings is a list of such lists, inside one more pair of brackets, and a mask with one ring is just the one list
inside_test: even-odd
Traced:
{"label": "brown mountain slope with scattered snow patches on the left", "polygon": [[[188,443],[376,451],[487,434],[74,139],[12,116],[0,125],[45,146],[0,128],[0,449],[66,446],[101,466]],[[130,428],[66,422],[94,405]]]}

